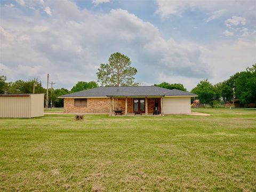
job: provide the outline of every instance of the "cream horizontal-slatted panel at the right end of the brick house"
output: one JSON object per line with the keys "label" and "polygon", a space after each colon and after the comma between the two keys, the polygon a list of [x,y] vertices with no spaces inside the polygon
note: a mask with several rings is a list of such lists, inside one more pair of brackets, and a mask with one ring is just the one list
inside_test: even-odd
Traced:
{"label": "cream horizontal-slatted panel at the right end of the brick house", "polygon": [[164,114],[189,114],[190,97],[165,97],[163,100]]}

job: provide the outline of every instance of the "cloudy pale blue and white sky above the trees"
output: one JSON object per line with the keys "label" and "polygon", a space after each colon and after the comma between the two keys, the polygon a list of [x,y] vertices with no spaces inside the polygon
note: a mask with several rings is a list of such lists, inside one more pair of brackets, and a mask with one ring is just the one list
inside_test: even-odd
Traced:
{"label": "cloudy pale blue and white sky above the trees", "polygon": [[224,81],[256,62],[256,1],[0,1],[0,73],[71,89],[115,52],[135,82]]}

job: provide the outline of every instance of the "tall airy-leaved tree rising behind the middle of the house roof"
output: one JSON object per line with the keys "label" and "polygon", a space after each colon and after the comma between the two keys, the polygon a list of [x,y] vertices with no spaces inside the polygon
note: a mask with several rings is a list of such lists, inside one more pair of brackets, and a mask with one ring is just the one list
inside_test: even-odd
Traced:
{"label": "tall airy-leaved tree rising behind the middle of the house roof", "polygon": [[102,86],[135,86],[134,75],[137,69],[131,67],[130,58],[121,53],[111,54],[107,64],[98,69],[98,82]]}

